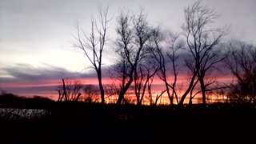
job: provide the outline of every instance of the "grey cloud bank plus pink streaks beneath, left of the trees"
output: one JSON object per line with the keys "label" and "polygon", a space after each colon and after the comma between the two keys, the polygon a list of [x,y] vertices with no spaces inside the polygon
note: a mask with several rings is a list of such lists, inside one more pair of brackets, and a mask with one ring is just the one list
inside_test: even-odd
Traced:
{"label": "grey cloud bank plus pink streaks beneath, left of the trees", "polygon": [[[46,96],[47,94],[48,96],[49,94],[55,95],[54,90],[61,83],[62,78],[87,79],[90,81],[82,82],[84,84],[94,84],[94,81],[97,80],[97,75],[94,71],[78,73],[50,65],[35,67],[28,64],[16,64],[2,68],[1,74],[0,90],[25,96],[35,94],[42,96]],[[107,73],[103,74],[103,78],[105,74]]]}

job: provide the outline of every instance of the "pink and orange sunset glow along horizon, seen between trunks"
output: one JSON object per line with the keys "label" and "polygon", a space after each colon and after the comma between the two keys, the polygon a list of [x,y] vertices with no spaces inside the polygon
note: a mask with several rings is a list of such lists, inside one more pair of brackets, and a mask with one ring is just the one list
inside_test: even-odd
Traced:
{"label": "pink and orange sunset glow along horizon, seen between trunks", "polygon": [[[230,78],[223,78],[224,81],[230,81]],[[74,79],[70,79],[70,80],[75,80],[75,81],[79,81],[81,82],[82,85],[94,85],[94,86],[98,86],[98,78],[74,78]],[[109,84],[112,80],[110,78],[102,78],[102,83],[103,85]],[[10,90],[10,92],[14,92],[14,94],[18,94],[21,96],[27,96],[27,97],[31,97],[34,95],[38,95],[38,96],[42,96],[42,97],[46,97],[46,98],[51,98],[54,100],[58,99],[58,92],[56,91],[58,86],[62,86],[62,79],[52,79],[52,80],[46,80],[43,82],[16,82],[16,83],[0,83],[1,86],[5,86],[4,88],[6,90]],[[49,89],[46,89],[48,88]],[[186,86],[185,86],[186,87]],[[38,90],[37,90],[38,88]],[[155,80],[153,85],[153,97],[155,98],[155,96],[157,94],[161,94],[162,90],[165,89],[163,83],[161,80]],[[14,91],[11,91],[12,89],[15,89]],[[31,90],[32,89],[32,90]],[[46,89],[46,90],[41,90],[40,89]],[[178,98],[181,98],[181,94],[184,93],[184,90],[178,90]],[[116,96],[117,97],[117,96]],[[143,100],[143,104],[149,104],[149,100],[146,100],[147,95],[145,95],[144,100]],[[131,96],[130,98],[135,98],[134,94],[133,96]],[[196,96],[196,98],[199,98],[199,100],[196,100],[194,102],[199,102],[201,101],[200,98],[200,94],[198,94],[198,96]],[[115,98],[117,99],[117,98]],[[218,102],[220,98],[211,98],[211,102]],[[226,100],[225,98],[222,98],[223,101]],[[135,99],[136,100],[136,99]],[[162,101],[164,101],[163,103],[165,104],[170,104],[170,100],[167,96],[167,94],[162,94]],[[107,102],[108,100],[106,100]],[[160,101],[158,101],[159,103]],[[186,97],[184,103],[188,103],[189,102],[189,95]],[[174,98],[174,104],[177,103],[175,98]]]}

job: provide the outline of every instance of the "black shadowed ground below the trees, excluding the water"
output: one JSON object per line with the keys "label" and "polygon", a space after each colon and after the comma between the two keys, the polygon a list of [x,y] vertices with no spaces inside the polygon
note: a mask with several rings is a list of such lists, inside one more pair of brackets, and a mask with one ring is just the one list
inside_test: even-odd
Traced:
{"label": "black shadowed ground below the trees, excluding the water", "polygon": [[[255,143],[256,107],[34,105],[40,118],[1,119],[0,143]],[[28,107],[26,107],[28,108]]]}

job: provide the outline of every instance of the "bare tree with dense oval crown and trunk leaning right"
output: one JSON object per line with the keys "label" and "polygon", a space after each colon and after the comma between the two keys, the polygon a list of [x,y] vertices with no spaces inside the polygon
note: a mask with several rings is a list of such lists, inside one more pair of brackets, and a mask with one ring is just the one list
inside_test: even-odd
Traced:
{"label": "bare tree with dense oval crown and trunk leaning right", "polygon": [[130,14],[122,12],[118,17],[118,54],[125,58],[130,70],[128,79],[125,82],[118,96],[118,104],[122,103],[126,91],[134,81],[134,70],[138,63],[146,55],[146,42],[150,38],[150,28],[146,22],[146,15],[139,13],[137,16],[130,17]]}

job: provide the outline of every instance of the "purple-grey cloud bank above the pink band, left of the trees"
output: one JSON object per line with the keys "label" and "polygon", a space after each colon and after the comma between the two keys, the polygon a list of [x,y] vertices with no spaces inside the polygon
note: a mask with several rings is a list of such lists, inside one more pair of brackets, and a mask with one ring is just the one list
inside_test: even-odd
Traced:
{"label": "purple-grey cloud bank above the pink band, left of the trees", "polygon": [[[46,82],[61,78],[97,78],[94,71],[89,72],[74,72],[66,70],[58,66],[32,66],[29,64],[18,63],[14,66],[2,68],[9,77],[0,75],[0,82]],[[105,73],[106,74],[106,73]],[[104,74],[103,74],[104,77]]]}

